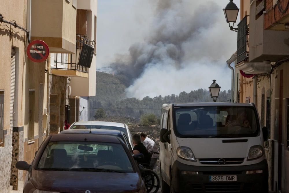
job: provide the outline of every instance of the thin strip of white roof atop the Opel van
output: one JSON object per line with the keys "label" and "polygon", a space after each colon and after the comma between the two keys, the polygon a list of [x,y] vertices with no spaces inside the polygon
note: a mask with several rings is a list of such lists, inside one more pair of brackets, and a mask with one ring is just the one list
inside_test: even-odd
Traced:
{"label": "thin strip of white roof atop the Opel van", "polygon": [[[164,104],[167,106],[169,104]],[[194,107],[194,106],[253,106],[252,103],[234,103],[234,102],[188,102],[173,104],[176,107]]]}

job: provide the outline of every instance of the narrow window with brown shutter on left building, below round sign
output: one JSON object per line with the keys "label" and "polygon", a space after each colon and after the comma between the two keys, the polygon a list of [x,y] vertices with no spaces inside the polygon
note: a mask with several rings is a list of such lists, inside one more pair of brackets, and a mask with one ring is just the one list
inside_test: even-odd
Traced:
{"label": "narrow window with brown shutter on left building, below round sign", "polygon": [[29,91],[29,112],[28,112],[28,141],[34,140],[34,102],[35,91]]}

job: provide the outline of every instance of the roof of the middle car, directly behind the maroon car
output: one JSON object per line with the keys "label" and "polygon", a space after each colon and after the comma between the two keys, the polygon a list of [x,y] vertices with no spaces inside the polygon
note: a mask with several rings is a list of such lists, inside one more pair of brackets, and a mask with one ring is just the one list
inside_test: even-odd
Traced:
{"label": "roof of the middle car, directly behind the maroon car", "polygon": [[[91,133],[90,133],[91,131]],[[66,129],[60,132],[60,134],[66,133],[86,133],[86,134],[100,134],[100,135],[121,135],[123,133],[119,130],[111,129]]]}

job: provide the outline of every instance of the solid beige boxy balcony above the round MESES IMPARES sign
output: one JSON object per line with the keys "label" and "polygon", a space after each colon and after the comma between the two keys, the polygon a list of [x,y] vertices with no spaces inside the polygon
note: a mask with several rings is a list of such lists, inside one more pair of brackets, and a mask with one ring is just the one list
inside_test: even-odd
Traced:
{"label": "solid beige boxy balcony above the round MESES IMPARES sign", "polygon": [[31,41],[45,41],[50,53],[75,53],[76,8],[66,0],[34,0]]}

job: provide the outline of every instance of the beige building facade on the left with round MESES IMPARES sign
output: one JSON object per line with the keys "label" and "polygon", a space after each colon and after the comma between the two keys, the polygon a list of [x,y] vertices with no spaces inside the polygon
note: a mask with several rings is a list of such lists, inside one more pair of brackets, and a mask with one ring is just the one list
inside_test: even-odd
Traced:
{"label": "beige building facade on the left with round MESES IMPARES sign", "polygon": [[[23,187],[26,172],[15,163],[31,163],[45,137],[64,129],[72,101],[74,118],[88,117],[81,107],[95,95],[97,0],[0,4],[0,190],[8,193]],[[49,47],[43,62],[27,57],[34,40]]]}

